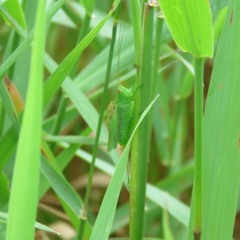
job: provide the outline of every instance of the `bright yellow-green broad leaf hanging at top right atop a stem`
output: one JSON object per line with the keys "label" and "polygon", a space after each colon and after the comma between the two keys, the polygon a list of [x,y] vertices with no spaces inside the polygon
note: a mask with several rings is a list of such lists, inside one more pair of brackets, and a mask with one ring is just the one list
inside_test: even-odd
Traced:
{"label": "bright yellow-green broad leaf hanging at top right atop a stem", "polygon": [[194,57],[212,57],[213,29],[206,0],[159,0],[168,28],[178,47]]}

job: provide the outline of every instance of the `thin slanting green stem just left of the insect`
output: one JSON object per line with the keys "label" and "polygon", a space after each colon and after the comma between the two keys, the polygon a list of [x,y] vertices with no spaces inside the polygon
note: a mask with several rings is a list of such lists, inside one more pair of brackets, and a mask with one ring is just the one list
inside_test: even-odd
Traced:
{"label": "thin slanting green stem just left of the insect", "polygon": [[88,210],[88,204],[89,204],[89,199],[90,199],[90,194],[91,194],[91,189],[92,189],[92,179],[93,179],[93,173],[94,173],[94,168],[95,168],[96,156],[97,156],[97,152],[98,152],[99,138],[100,138],[101,127],[102,127],[102,123],[103,123],[104,111],[105,111],[106,105],[107,105],[108,84],[109,84],[109,80],[110,80],[112,59],[113,59],[113,50],[114,50],[116,34],[117,34],[118,17],[119,17],[119,7],[117,8],[117,10],[115,12],[115,16],[114,16],[112,41],[110,44],[107,72],[106,72],[106,78],[105,78],[105,82],[104,82],[103,99],[102,99],[101,107],[100,107],[97,133],[96,133],[96,138],[95,138],[95,143],[94,143],[94,148],[93,148],[92,162],[91,162],[91,166],[90,166],[90,170],[89,170],[87,189],[86,189],[86,193],[85,193],[85,197],[84,197],[82,216],[80,219],[80,225],[79,225],[79,229],[78,229],[78,239],[79,240],[83,239],[83,236],[84,236],[85,222],[87,219],[87,210]]}

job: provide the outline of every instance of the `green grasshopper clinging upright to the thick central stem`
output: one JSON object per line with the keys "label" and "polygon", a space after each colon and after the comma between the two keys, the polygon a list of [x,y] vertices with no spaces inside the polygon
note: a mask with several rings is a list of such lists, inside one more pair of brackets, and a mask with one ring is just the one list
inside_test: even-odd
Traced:
{"label": "green grasshopper clinging upright to the thick central stem", "polygon": [[134,122],[133,95],[131,90],[119,85],[114,101],[108,105],[108,150],[116,148],[118,143],[125,146],[131,136]]}

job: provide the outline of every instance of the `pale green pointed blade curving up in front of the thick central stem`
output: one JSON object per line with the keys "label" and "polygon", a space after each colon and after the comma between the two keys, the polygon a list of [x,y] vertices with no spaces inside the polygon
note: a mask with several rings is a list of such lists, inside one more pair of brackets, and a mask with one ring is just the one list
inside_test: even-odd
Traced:
{"label": "pale green pointed blade curving up in front of the thick central stem", "polygon": [[105,193],[101,208],[98,213],[98,217],[97,217],[96,222],[93,227],[93,231],[92,231],[90,240],[94,240],[94,239],[105,240],[105,239],[108,239],[108,237],[109,237],[114,214],[116,211],[119,194],[120,194],[120,190],[121,190],[123,179],[124,179],[125,169],[127,167],[128,154],[129,154],[133,135],[134,135],[135,131],[137,130],[138,126],[141,124],[144,117],[147,115],[147,113],[151,109],[151,107],[154,104],[154,102],[156,101],[157,97],[149,104],[149,106],[145,109],[145,111],[141,115],[141,117],[140,117],[136,127],[134,128],[132,135],[123,151],[123,154],[119,160],[119,163],[116,166],[116,169],[112,176],[111,182]]}

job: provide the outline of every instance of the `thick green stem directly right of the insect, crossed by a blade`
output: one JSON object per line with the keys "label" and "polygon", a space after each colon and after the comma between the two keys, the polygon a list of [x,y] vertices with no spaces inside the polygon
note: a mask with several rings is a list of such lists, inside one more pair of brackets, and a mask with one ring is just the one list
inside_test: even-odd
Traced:
{"label": "thick green stem directly right of the insect, crossed by a blade", "polygon": [[[136,101],[135,115],[144,111],[151,100],[152,83],[152,36],[153,9],[148,5],[144,9],[143,47],[140,65],[140,88]],[[150,145],[151,118],[148,115],[142,122],[135,137],[131,150],[130,177],[130,239],[143,239],[144,206],[147,182],[147,161]]]}

